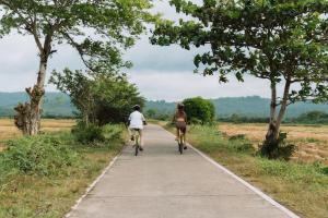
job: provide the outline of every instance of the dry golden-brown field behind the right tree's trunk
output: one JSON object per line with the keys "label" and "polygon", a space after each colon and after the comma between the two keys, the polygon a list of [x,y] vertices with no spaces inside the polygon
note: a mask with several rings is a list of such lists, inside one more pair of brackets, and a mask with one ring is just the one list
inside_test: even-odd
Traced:
{"label": "dry golden-brown field behind the right tree's trunk", "polygon": [[[258,147],[262,142],[267,124],[248,123],[220,123],[219,130],[227,136],[244,134]],[[328,165],[328,126],[327,125],[283,125],[282,132],[288,133],[289,142],[297,146],[297,152],[292,158],[295,161],[321,161]]]}

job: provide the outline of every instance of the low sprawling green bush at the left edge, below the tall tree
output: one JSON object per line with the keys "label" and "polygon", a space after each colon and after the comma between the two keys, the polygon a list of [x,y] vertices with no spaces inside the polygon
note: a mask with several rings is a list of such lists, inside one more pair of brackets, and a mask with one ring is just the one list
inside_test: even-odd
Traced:
{"label": "low sprawling green bush at the left edge, below the tall tree", "polygon": [[25,174],[51,175],[62,168],[79,161],[78,154],[68,145],[70,136],[39,135],[22,137],[7,142],[8,148],[0,154],[0,177],[11,172]]}

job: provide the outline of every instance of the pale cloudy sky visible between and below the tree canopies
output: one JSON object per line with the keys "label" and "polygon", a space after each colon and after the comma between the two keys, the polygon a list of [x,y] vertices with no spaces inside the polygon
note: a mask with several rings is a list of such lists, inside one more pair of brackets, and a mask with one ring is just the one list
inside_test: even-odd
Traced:
{"label": "pale cloudy sky visible between and below the tree canopies", "polygon": [[[155,12],[164,17],[177,20],[166,1],[155,3]],[[201,50],[184,50],[178,46],[160,47],[149,43],[149,36],[141,36],[136,46],[125,53],[133,68],[126,70],[129,81],[140,93],[151,100],[178,101],[187,97],[204,98],[254,96],[269,97],[269,84],[266,81],[246,77],[245,83],[231,77],[230,83],[220,84],[218,76],[195,74],[194,56]],[[48,77],[54,69],[82,69],[77,51],[68,46],[56,47],[58,52],[50,59]],[[11,34],[0,38],[0,92],[22,92],[35,83],[38,57],[34,40],[30,36]],[[46,90],[55,92],[51,85]]]}

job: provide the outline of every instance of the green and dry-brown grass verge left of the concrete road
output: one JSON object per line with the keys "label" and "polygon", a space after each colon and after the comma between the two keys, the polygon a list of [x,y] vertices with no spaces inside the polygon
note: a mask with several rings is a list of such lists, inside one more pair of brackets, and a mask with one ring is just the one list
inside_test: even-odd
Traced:
{"label": "green and dry-brown grass verge left of the concrete road", "polygon": [[[121,131],[120,126],[107,129]],[[121,150],[125,136],[108,135],[92,146],[78,143],[69,132],[8,142],[9,149],[0,156],[0,217],[59,218],[67,214]]]}

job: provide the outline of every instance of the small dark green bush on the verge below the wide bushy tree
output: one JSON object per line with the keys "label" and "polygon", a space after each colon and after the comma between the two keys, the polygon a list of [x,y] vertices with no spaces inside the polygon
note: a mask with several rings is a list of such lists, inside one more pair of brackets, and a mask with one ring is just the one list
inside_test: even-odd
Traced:
{"label": "small dark green bush on the verge below the wide bushy tree", "polygon": [[75,140],[82,144],[105,141],[103,129],[95,124],[85,125],[83,122],[79,122],[78,125],[73,128],[72,133]]}

